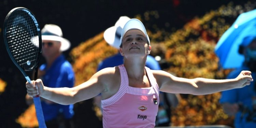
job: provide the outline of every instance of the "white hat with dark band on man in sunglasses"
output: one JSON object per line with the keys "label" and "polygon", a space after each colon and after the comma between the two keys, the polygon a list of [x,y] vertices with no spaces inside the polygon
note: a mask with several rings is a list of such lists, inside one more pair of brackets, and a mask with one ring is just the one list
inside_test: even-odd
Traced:
{"label": "white hat with dark band on man in sunglasses", "polygon": [[69,40],[63,38],[61,28],[57,25],[46,24],[41,30],[41,33],[42,40],[60,41],[60,51],[66,51],[71,45]]}

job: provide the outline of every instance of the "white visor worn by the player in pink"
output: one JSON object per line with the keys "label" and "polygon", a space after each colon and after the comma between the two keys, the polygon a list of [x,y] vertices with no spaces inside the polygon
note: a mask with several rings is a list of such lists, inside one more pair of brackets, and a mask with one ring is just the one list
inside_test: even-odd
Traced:
{"label": "white visor worn by the player in pink", "polygon": [[121,38],[120,38],[120,44],[122,43],[122,40],[123,40],[123,37],[125,35],[125,33],[131,29],[139,29],[141,30],[146,38],[147,38],[147,41],[148,41],[148,44],[150,45],[150,39],[147,35],[147,31],[144,27],[144,25],[142,24],[142,22],[139,20],[139,19],[130,19],[124,26],[123,30],[122,30],[122,34],[121,34]]}

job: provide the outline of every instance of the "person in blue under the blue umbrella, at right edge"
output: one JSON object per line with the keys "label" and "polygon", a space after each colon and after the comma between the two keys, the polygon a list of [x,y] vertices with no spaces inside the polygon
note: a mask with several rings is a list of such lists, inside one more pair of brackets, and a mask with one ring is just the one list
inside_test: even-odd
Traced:
{"label": "person in blue under the blue umbrella, at right edge", "polygon": [[[250,39],[251,38],[251,39]],[[248,41],[250,40],[250,41]],[[248,37],[239,47],[239,53],[245,57],[242,67],[230,72],[227,79],[233,79],[243,70],[250,70],[253,79],[256,79],[256,38]],[[222,92],[219,100],[223,110],[234,116],[236,128],[256,128],[256,83],[250,86]]]}

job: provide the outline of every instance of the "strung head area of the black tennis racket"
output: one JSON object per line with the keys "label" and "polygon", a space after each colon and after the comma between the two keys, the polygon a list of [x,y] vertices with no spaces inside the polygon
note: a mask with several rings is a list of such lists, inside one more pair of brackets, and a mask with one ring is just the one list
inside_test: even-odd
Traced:
{"label": "strung head area of the black tennis racket", "polygon": [[6,28],[8,45],[14,59],[23,69],[32,69],[37,64],[40,52],[39,33],[33,18],[27,12],[17,10],[9,16]]}

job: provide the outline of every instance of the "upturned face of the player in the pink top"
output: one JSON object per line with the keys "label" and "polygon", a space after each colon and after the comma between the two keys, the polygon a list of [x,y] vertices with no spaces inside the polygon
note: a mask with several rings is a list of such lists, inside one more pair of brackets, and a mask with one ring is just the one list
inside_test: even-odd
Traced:
{"label": "upturned face of the player in the pink top", "polygon": [[138,29],[132,29],[125,33],[123,41],[123,47],[120,48],[120,52],[124,55],[146,55],[149,49],[147,44],[147,38],[145,34]]}

